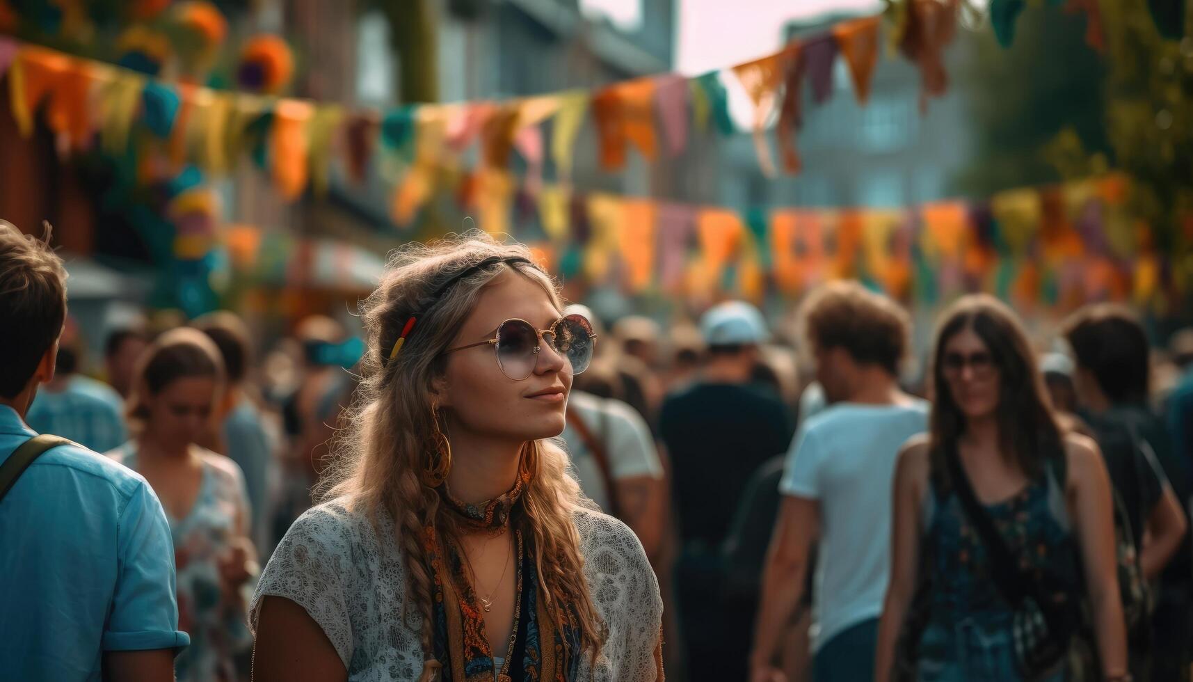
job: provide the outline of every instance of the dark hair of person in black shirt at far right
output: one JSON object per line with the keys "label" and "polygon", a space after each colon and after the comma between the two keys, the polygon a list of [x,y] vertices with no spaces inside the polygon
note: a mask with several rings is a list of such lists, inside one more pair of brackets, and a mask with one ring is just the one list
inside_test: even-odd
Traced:
{"label": "dark hair of person in black shirt at far right", "polygon": [[1089,370],[1111,403],[1144,403],[1150,387],[1148,333],[1129,308],[1099,303],[1064,322],[1077,365]]}

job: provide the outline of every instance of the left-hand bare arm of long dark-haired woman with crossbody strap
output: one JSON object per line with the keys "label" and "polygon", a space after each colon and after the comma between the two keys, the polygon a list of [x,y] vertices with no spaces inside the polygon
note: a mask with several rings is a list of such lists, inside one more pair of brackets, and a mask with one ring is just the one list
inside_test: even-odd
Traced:
{"label": "left-hand bare arm of long dark-haired woman with crossbody strap", "polygon": [[903,446],[895,467],[891,522],[891,576],[878,625],[876,682],[886,682],[895,665],[895,646],[915,596],[920,572],[920,506],[927,494],[928,447],[920,438]]}

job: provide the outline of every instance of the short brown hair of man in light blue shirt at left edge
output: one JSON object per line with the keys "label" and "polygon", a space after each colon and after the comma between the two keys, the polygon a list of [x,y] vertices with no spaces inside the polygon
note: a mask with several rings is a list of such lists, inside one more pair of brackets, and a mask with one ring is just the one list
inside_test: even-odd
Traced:
{"label": "short brown hair of man in light blue shirt at left edge", "polygon": [[67,272],[44,239],[0,220],[0,397],[25,389],[67,317]]}

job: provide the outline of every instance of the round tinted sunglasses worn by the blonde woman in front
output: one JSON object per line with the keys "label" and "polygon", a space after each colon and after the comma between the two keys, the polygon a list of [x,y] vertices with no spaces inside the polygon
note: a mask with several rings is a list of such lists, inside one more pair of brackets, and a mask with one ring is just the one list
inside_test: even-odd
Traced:
{"label": "round tinted sunglasses worn by the blonde woman in front", "polygon": [[596,334],[593,333],[592,322],[583,315],[560,318],[546,330],[536,330],[526,320],[513,318],[497,326],[494,338],[450,348],[444,352],[492,344],[497,349],[497,367],[501,368],[501,374],[514,381],[521,381],[534,373],[543,342],[571,364],[571,374],[580,374],[588,369],[593,360]]}

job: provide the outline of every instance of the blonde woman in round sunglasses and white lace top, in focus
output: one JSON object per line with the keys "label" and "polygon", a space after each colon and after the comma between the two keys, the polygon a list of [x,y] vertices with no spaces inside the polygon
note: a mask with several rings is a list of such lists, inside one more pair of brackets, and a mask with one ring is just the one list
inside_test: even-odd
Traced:
{"label": "blonde woman in round sunglasses and white lace top, in focus", "polygon": [[662,678],[645,553],[554,441],[594,343],[562,311],[520,245],[394,257],[340,468],[251,604],[255,680]]}

